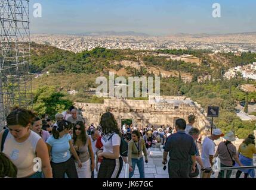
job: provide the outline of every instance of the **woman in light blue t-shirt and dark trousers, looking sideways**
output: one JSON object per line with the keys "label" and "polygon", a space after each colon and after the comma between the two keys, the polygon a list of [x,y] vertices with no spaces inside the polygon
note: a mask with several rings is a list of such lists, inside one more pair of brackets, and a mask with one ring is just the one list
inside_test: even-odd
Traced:
{"label": "woman in light blue t-shirt and dark trousers, looking sideways", "polygon": [[47,140],[47,147],[51,155],[51,167],[53,168],[53,178],[64,178],[66,173],[68,178],[78,178],[76,166],[70,152],[78,162],[78,167],[82,163],[73,147],[72,138],[69,134],[72,124],[68,121],[58,121],[53,127],[53,135]]}

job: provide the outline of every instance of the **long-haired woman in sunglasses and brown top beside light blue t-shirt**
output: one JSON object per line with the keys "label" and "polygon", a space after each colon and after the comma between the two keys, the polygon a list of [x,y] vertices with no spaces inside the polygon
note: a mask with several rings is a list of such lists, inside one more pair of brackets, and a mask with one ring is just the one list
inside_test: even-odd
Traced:
{"label": "long-haired woman in sunglasses and brown top beside light blue t-shirt", "polygon": [[77,121],[73,128],[73,144],[82,162],[81,168],[76,163],[78,178],[91,178],[91,172],[94,171],[95,167],[94,153],[90,137],[87,135],[84,122],[82,121]]}

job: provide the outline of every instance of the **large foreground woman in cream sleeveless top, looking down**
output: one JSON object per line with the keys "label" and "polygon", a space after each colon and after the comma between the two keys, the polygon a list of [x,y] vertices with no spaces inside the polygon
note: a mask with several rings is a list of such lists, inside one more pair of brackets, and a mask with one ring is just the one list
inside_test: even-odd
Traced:
{"label": "large foreground woman in cream sleeveless top, looking down", "polygon": [[[0,133],[1,152],[17,167],[17,178],[53,178],[47,145],[31,131],[35,114],[31,110],[16,108],[7,116],[8,129]],[[2,141],[3,140],[3,141]],[[41,159],[42,172],[34,170],[34,159]]]}

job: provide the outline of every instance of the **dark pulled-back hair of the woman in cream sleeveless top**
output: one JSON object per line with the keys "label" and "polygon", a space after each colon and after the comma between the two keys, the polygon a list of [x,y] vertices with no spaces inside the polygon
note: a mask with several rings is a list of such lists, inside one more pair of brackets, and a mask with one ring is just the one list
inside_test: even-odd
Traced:
{"label": "dark pulled-back hair of the woman in cream sleeveless top", "polygon": [[7,125],[21,125],[26,127],[27,125],[32,123],[32,119],[36,117],[36,114],[31,110],[22,109],[15,107],[11,113],[7,116]]}

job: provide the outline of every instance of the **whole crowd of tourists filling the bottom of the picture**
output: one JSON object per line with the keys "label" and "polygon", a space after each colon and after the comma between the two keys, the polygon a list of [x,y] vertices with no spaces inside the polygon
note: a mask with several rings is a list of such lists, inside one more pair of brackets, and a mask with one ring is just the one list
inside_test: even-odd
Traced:
{"label": "whole crowd of tourists filling the bottom of the picture", "polygon": [[[195,115],[187,120],[188,124],[177,119],[174,128],[132,124],[119,128],[114,115],[106,112],[98,126],[87,126],[74,106],[53,118],[15,108],[0,132],[0,178],[119,178],[124,164],[129,164],[129,178],[136,166],[140,178],[145,178],[150,148],[164,148],[162,163],[168,164],[169,178],[198,178],[200,173],[211,178],[214,164],[220,166],[218,178],[230,178],[232,170],[221,168],[253,166],[254,135],[249,134],[236,150],[234,132],[224,135],[214,129],[205,137],[195,126]],[[219,138],[223,141],[216,146]],[[244,178],[255,177],[254,169],[239,169],[236,178],[242,173]]]}

